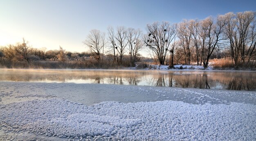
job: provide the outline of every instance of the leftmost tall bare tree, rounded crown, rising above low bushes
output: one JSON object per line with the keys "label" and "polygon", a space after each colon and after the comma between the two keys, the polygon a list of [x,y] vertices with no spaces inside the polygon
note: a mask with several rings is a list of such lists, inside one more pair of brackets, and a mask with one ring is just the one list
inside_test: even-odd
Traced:
{"label": "leftmost tall bare tree, rounded crown, rising above low bushes", "polygon": [[[104,37],[102,37],[104,36]],[[87,39],[83,42],[88,48],[90,48],[91,53],[99,60],[101,51],[105,46],[105,35],[97,29],[90,31]]]}

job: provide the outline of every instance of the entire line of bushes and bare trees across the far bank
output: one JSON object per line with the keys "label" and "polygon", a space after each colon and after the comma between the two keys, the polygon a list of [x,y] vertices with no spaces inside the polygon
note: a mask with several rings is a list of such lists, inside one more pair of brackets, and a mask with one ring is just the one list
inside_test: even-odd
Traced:
{"label": "entire line of bushes and bare trees across the far bank", "polygon": [[45,48],[32,48],[23,40],[23,43],[2,47],[0,57],[27,63],[36,60],[91,62],[81,68],[135,66],[141,60],[150,60],[139,54],[145,48],[155,63],[170,67],[193,62],[207,68],[210,59],[226,58],[231,60],[229,67],[256,68],[256,12],[226,13],[177,24],[154,22],[147,24],[146,33],[109,26],[107,33],[90,31],[83,43],[89,53],[66,52],[62,47],[58,51],[45,51]]}

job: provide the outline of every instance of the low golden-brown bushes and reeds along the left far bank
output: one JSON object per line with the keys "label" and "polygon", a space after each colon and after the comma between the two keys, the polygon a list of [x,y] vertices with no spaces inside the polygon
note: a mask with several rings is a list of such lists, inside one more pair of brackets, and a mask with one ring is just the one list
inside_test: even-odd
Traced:
{"label": "low golden-brown bushes and reeds along the left far bank", "polygon": [[[123,66],[113,61],[114,56],[104,54],[99,57],[90,52],[65,51],[61,46],[59,50],[46,48],[33,48],[23,39],[22,43],[0,47],[1,68],[120,68],[130,66],[128,55],[124,55]],[[104,59],[103,59],[104,58]],[[150,62],[150,59],[138,54],[137,60]]]}

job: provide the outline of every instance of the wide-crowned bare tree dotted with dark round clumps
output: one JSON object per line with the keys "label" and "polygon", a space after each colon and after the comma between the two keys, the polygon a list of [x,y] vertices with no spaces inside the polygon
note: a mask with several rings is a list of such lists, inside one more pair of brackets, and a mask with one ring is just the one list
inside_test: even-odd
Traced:
{"label": "wide-crowned bare tree dotted with dark round clumps", "polygon": [[176,35],[176,25],[168,22],[154,22],[146,27],[148,35],[144,37],[144,43],[157,56],[159,64],[164,64],[166,53]]}

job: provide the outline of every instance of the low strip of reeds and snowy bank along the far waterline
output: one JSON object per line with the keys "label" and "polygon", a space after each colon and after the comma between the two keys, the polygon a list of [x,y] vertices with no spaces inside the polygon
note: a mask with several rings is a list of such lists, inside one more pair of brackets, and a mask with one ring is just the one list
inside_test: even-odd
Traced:
{"label": "low strip of reeds and snowy bank along the far waterline", "polygon": [[135,67],[130,67],[130,63],[126,62],[123,65],[113,62],[90,62],[90,61],[32,61],[32,62],[11,62],[0,59],[0,68],[25,68],[25,69],[99,69],[99,70],[169,70],[169,71],[256,71],[254,66],[252,67],[232,67],[232,63],[228,66],[218,66],[218,62],[209,63],[207,68],[203,66],[197,66],[195,63],[191,65],[176,64],[173,68],[169,68],[168,65],[155,65],[147,63],[136,63]]}

